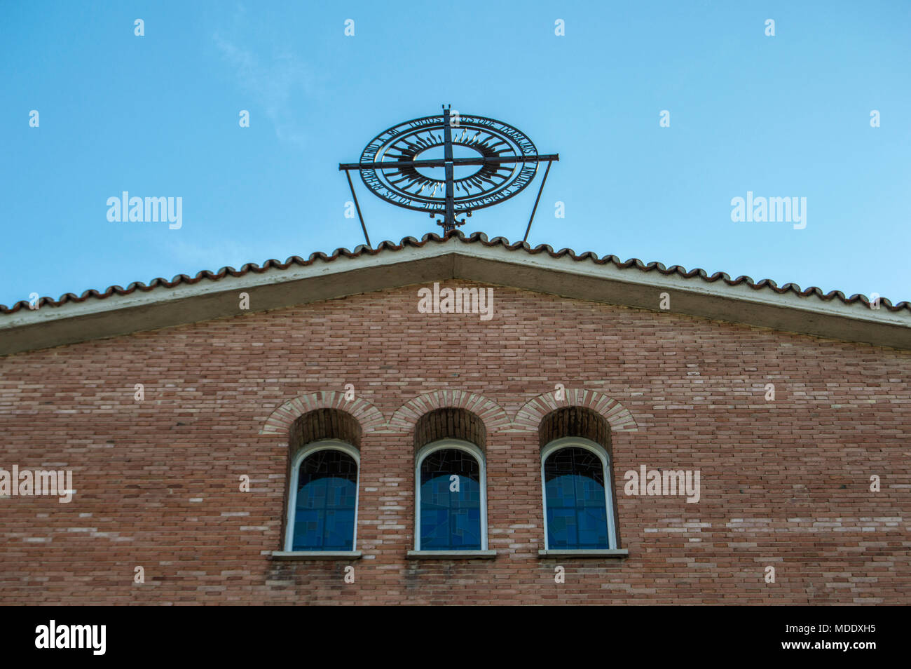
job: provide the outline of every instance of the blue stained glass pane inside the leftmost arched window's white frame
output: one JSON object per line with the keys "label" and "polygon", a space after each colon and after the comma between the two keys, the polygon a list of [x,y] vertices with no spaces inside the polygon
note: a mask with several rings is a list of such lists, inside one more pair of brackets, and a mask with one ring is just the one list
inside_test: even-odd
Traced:
{"label": "blue stained glass pane inside the leftmost arched window's white frame", "polygon": [[357,463],[340,450],[304,458],[298,474],[292,551],[353,551]]}

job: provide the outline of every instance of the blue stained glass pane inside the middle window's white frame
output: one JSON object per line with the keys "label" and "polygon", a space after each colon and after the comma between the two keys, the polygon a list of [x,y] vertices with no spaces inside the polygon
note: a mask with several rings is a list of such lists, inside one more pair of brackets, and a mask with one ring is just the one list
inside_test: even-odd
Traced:
{"label": "blue stained glass pane inside the middle window's white frame", "polygon": [[[457,490],[452,479],[457,479]],[[421,462],[421,550],[481,549],[481,473],[464,450],[443,448]]]}

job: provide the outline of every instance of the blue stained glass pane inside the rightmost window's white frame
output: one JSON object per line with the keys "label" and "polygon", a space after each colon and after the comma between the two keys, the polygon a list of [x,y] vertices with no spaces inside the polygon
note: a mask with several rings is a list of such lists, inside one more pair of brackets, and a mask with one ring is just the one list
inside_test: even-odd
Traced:
{"label": "blue stained glass pane inside the rightmost window's white frame", "polygon": [[560,448],[544,463],[548,548],[607,549],[608,509],[601,459],[587,448]]}

